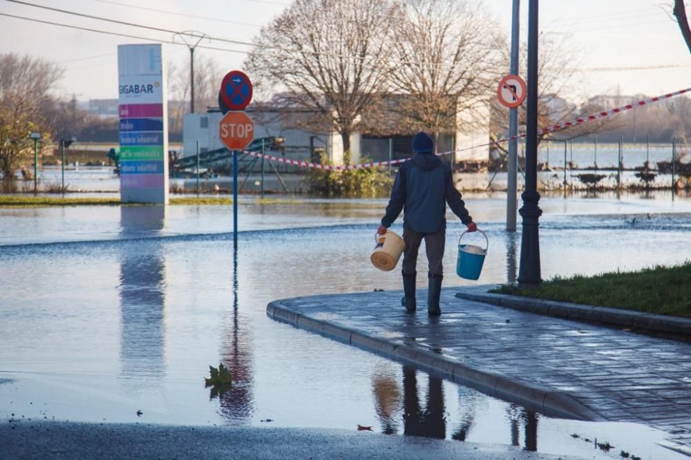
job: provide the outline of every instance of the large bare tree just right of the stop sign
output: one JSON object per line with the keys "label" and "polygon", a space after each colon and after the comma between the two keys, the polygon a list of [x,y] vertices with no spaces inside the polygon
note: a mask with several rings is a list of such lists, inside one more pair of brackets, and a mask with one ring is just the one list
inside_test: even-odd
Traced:
{"label": "large bare tree just right of the stop sign", "polygon": [[255,39],[245,68],[257,95],[317,115],[341,134],[343,150],[386,82],[389,0],[296,0]]}

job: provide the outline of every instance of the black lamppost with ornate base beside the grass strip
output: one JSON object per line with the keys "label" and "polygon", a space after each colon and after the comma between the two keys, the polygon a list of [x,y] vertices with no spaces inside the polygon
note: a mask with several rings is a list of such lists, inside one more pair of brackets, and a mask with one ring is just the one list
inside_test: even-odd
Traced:
{"label": "black lamppost with ornate base beside the grass strip", "polygon": [[521,195],[523,231],[520,245],[518,285],[538,287],[540,278],[540,237],[538,225],[538,0],[528,1],[528,90],[525,148],[525,190]]}

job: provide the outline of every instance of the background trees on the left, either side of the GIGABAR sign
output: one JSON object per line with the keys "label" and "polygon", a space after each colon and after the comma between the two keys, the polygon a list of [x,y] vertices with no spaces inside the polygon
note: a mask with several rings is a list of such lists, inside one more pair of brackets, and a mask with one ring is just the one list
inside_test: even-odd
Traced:
{"label": "background trees on the left, either side of the GIGABAR sign", "polygon": [[[215,106],[223,76],[218,64],[198,57],[195,72],[196,106]],[[100,142],[117,142],[117,119],[101,119],[77,106],[76,97],[56,95],[64,68],[44,59],[0,55],[0,176],[14,180],[17,169],[30,164],[33,141],[39,133],[41,150],[60,138],[77,137]],[[169,133],[182,138],[182,115],[189,111],[189,62],[168,67]],[[29,174],[30,171],[27,171]]]}

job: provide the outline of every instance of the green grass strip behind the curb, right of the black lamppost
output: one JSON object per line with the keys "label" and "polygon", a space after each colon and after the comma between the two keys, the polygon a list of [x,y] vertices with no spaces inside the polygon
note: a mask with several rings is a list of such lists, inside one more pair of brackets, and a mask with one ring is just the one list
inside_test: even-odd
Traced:
{"label": "green grass strip behind the curb, right of the black lamppost", "polygon": [[641,271],[556,276],[538,289],[502,285],[490,292],[691,318],[691,261]]}

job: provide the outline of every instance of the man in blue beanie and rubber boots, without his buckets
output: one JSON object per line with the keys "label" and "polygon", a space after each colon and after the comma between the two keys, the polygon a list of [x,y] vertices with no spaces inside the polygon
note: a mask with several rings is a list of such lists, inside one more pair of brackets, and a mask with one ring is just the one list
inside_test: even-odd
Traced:
{"label": "man in blue beanie and rubber boots, without his buckets", "polygon": [[401,305],[408,312],[415,312],[417,252],[424,239],[428,262],[427,313],[440,315],[446,203],[466,224],[468,231],[476,231],[477,226],[468,214],[461,194],[453,186],[451,168],[434,154],[434,141],[427,133],[415,135],[413,152],[415,156],[401,164],[398,170],[386,215],[381,219],[377,233],[386,233],[386,229],[404,211],[403,239],[406,250],[403,253],[404,298],[401,299]]}

